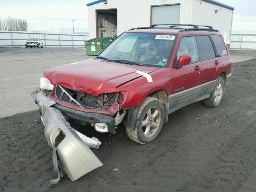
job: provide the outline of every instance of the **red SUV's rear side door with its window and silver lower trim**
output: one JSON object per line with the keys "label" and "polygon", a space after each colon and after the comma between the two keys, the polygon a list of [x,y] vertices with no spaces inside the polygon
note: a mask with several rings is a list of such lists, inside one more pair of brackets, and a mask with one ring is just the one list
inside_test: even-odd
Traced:
{"label": "red SUV's rear side door with its window and silver lower trim", "polygon": [[201,96],[207,96],[214,88],[216,82],[216,64],[220,62],[220,59],[216,55],[217,53],[210,36],[196,36],[196,42],[202,70]]}

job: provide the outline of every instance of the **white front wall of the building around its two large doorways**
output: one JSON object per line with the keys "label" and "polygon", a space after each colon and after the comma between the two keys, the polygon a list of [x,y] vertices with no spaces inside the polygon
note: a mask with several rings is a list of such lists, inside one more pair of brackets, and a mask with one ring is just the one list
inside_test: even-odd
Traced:
{"label": "white front wall of the building around its two large doorways", "polygon": [[[191,22],[192,0],[108,0],[88,7],[89,38],[96,37],[96,11],[117,8],[117,34],[134,27],[150,26],[150,6],[180,4],[180,23]],[[184,6],[186,5],[186,6]]]}

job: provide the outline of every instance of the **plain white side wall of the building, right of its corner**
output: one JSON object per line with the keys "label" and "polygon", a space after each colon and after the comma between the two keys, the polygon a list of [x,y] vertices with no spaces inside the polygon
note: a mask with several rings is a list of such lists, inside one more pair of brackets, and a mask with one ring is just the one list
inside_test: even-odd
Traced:
{"label": "plain white side wall of the building, right of its corner", "polygon": [[[219,10],[215,13],[215,10]],[[210,25],[221,32],[227,31],[226,44],[230,44],[233,10],[203,0],[194,0],[192,6],[192,23]]]}

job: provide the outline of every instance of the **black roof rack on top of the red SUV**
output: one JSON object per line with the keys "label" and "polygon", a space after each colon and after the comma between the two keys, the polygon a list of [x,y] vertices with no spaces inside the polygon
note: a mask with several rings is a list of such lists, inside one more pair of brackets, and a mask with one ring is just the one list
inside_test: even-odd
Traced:
{"label": "black roof rack on top of the red SUV", "polygon": [[[161,28],[180,29],[179,32],[185,32],[185,31],[191,31],[191,30],[200,30],[200,31],[206,31],[207,30],[207,31],[218,32],[218,30],[214,29],[212,26],[208,26],[208,25],[192,25],[192,24],[154,24],[154,25],[150,25],[149,27],[136,27],[136,28],[132,28],[130,30],[151,29],[151,28],[157,28],[155,26],[163,26],[163,25],[169,25],[169,27],[168,28],[167,27],[161,27]],[[191,26],[192,28],[176,28],[176,27],[182,27],[182,26]],[[199,28],[199,27],[206,27],[206,28]]]}

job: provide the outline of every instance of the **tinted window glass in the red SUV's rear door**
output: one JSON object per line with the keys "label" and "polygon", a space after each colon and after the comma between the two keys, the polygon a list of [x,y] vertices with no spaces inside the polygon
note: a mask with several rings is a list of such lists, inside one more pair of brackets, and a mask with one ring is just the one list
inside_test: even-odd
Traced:
{"label": "tinted window glass in the red SUV's rear door", "polygon": [[209,36],[196,36],[199,58],[201,61],[215,58],[214,48]]}

